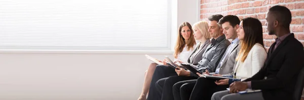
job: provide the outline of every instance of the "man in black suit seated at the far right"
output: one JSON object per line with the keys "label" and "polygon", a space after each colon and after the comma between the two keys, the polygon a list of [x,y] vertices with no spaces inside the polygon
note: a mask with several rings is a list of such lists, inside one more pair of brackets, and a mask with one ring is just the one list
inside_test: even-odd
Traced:
{"label": "man in black suit seated at the far right", "polygon": [[[274,6],[266,16],[269,35],[276,35],[264,66],[244,81],[234,82],[229,91],[213,94],[212,99],[293,99],[299,71],[304,66],[303,45],[290,33],[291,13],[283,6]],[[235,93],[245,89],[261,89],[260,92]]]}

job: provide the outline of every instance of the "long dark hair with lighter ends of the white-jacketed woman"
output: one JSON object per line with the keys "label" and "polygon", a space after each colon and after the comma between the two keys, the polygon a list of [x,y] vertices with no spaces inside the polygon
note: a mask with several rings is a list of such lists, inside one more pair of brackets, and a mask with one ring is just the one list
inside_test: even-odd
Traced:
{"label": "long dark hair with lighter ends of the white-jacketed woman", "polygon": [[262,24],[258,19],[255,18],[245,18],[243,21],[244,28],[244,39],[241,40],[241,50],[236,60],[245,61],[247,55],[254,44],[263,44],[263,29]]}

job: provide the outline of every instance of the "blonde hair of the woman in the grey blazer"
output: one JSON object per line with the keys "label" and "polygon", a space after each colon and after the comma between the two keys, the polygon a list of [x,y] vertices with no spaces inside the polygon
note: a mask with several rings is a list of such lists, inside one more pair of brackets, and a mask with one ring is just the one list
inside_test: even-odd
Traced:
{"label": "blonde hair of the woman in the grey blazer", "polygon": [[206,21],[200,21],[200,22],[197,22],[193,25],[193,30],[194,29],[199,29],[200,32],[202,33],[202,35],[206,38],[206,39],[210,39],[211,36],[208,32],[208,28],[209,28],[209,25],[208,25],[208,22]]}

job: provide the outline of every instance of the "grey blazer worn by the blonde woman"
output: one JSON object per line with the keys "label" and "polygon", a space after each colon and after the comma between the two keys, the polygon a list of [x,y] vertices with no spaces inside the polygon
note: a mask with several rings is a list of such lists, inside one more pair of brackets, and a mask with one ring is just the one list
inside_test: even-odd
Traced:
{"label": "grey blazer worn by the blonde woman", "polygon": [[[205,41],[205,43],[202,45],[202,47],[201,47],[201,48],[198,48],[198,47],[201,45],[201,43],[200,43],[200,44],[194,49],[194,51],[192,52],[192,54],[189,56],[189,58],[188,58],[188,63],[192,63],[192,64],[194,64],[194,65],[197,65],[198,62],[202,60],[203,53],[205,52],[205,50],[206,50],[206,48],[207,48],[207,46],[208,46],[209,44],[211,44],[211,42],[210,42],[209,39],[207,39],[207,40]],[[196,53],[197,50],[199,50],[198,53]],[[191,56],[193,56],[193,57],[192,57],[192,60],[190,60],[190,59],[191,59]]]}

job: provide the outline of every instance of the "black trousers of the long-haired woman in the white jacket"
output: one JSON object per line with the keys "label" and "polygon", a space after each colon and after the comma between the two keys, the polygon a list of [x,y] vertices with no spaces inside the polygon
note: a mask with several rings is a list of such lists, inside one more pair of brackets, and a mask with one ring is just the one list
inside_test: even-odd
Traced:
{"label": "black trousers of the long-haired woman in the white jacket", "polygon": [[[210,100],[213,93],[215,93],[217,91],[226,90],[226,88],[229,87],[228,84],[227,85],[217,85],[217,84],[215,84],[215,81],[216,81],[215,79],[210,79],[210,78],[204,78],[204,77],[198,78],[198,80],[192,90],[191,96],[188,99],[190,99],[190,100],[194,100],[194,99]],[[187,90],[184,90],[181,87],[180,91],[187,91]]]}

